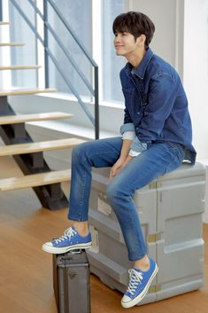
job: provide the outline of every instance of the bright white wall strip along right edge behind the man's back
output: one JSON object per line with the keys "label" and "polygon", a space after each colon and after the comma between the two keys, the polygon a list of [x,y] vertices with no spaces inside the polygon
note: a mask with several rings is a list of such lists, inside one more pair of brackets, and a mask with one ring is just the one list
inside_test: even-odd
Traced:
{"label": "bright white wall strip along right edge behind the man's back", "polygon": [[189,98],[197,159],[208,159],[208,0],[186,0],[184,87]]}

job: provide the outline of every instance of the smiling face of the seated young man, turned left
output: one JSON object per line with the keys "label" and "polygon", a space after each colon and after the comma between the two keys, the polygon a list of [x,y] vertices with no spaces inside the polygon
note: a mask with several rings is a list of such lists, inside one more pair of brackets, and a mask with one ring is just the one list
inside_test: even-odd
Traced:
{"label": "smiling face of the seated young man, turned left", "polygon": [[127,33],[116,33],[113,43],[118,56],[129,58],[132,54],[137,53],[139,48],[139,37],[135,41],[135,36]]}

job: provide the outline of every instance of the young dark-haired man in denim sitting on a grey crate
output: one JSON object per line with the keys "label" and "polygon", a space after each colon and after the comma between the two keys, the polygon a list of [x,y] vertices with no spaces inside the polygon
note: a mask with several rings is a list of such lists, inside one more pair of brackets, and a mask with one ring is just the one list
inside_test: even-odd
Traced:
{"label": "young dark-haired man in denim sitting on a grey crate", "polygon": [[73,150],[68,219],[73,227],[42,246],[52,254],[91,246],[88,211],[91,169],[112,167],[106,195],[117,215],[128,258],[129,285],[121,304],[130,308],[143,299],[158,272],[136,212],[136,189],[181,165],[194,164],[188,101],[176,71],[149,48],[154,24],[141,12],[120,14],[113,22],[114,46],[127,59],[120,72],[125,98],[122,137],[95,140]]}

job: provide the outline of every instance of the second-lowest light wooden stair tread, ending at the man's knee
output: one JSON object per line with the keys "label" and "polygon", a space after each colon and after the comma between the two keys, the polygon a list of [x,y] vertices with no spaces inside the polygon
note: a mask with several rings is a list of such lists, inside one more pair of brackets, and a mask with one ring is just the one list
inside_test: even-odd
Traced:
{"label": "second-lowest light wooden stair tread, ending at the man's knee", "polygon": [[29,144],[3,145],[0,146],[0,156],[70,149],[83,142],[84,140],[78,138],[66,138]]}

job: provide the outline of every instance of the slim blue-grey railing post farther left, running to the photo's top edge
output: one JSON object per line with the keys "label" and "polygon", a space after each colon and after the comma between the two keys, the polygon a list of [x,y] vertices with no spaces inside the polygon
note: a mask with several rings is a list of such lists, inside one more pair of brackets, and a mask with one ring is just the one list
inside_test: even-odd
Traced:
{"label": "slim blue-grey railing post farther left, running to the photo's top edge", "polygon": [[48,1],[43,1],[43,22],[44,22],[44,59],[45,59],[45,88],[49,88],[49,33],[46,22],[48,22]]}

